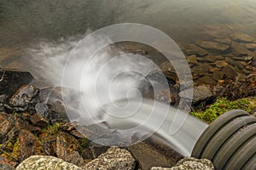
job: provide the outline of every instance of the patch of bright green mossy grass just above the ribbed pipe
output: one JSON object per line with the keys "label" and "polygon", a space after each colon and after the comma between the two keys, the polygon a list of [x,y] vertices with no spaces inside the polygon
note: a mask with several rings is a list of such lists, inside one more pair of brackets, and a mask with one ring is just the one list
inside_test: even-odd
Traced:
{"label": "patch of bright green mossy grass just above the ribbed pipe", "polygon": [[229,101],[226,98],[217,99],[217,101],[210,105],[206,111],[192,111],[191,115],[200,118],[204,122],[211,123],[226,111],[241,109],[247,112],[251,112],[253,107],[255,107],[254,102],[252,103],[252,100],[237,99],[235,101]]}

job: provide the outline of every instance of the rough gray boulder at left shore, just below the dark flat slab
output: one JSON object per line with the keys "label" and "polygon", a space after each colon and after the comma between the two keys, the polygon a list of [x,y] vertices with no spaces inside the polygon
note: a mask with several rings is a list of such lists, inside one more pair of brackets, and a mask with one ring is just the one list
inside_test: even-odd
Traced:
{"label": "rough gray boulder at left shore, just below the dark flat slab", "polygon": [[32,85],[22,86],[9,100],[9,104],[14,107],[26,107],[35,105],[38,102],[39,89]]}

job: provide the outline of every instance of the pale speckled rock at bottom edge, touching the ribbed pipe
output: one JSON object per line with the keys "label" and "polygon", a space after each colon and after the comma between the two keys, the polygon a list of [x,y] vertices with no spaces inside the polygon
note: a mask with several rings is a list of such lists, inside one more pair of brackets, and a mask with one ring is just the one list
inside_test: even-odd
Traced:
{"label": "pale speckled rock at bottom edge, touching the ribbed pipe", "polygon": [[152,167],[151,170],[214,170],[211,161],[207,159],[196,159],[194,157],[185,157],[178,161],[175,167],[163,168]]}

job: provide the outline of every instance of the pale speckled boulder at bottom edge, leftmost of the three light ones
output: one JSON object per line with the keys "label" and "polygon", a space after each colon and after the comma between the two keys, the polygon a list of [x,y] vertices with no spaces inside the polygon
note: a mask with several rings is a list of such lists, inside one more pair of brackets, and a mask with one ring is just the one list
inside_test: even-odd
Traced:
{"label": "pale speckled boulder at bottom edge, leftmost of the three light ones", "polygon": [[81,170],[81,168],[54,156],[30,156],[16,170]]}

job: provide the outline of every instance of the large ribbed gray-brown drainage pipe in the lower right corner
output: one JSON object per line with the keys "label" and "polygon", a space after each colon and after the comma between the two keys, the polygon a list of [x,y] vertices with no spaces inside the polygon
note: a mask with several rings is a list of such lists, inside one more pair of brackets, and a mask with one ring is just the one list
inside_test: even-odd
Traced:
{"label": "large ribbed gray-brown drainage pipe in the lower right corner", "polygon": [[217,170],[256,169],[256,117],[241,110],[219,116],[201,134],[191,156],[211,160]]}

